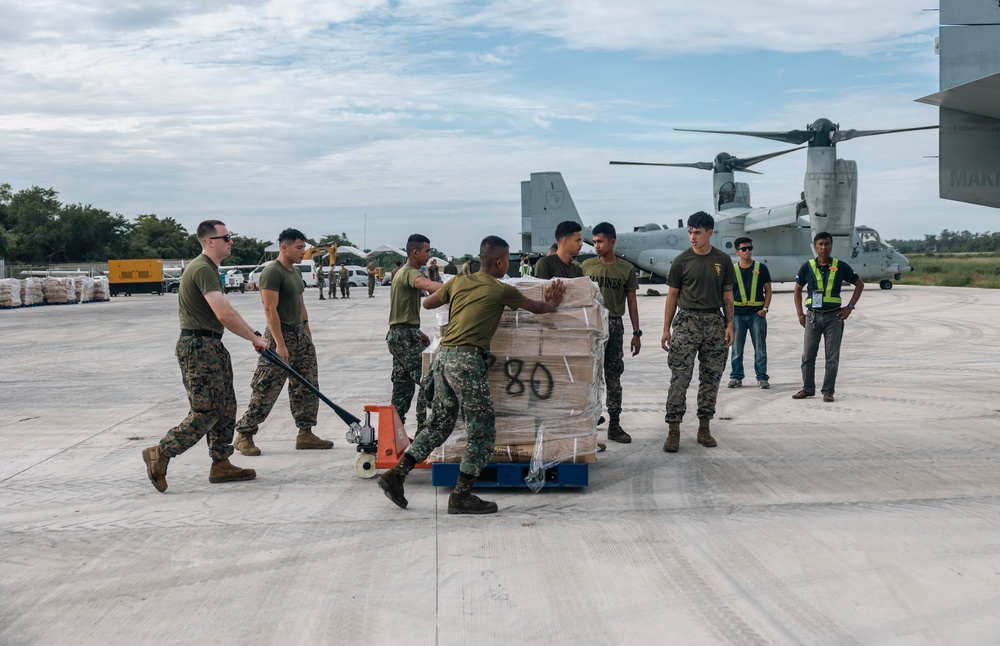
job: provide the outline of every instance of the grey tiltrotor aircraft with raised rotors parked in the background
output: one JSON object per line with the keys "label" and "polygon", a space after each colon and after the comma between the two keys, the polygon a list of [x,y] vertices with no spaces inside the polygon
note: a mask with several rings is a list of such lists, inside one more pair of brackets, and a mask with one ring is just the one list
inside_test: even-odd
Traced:
{"label": "grey tiltrotor aircraft with raised rotors parked in the background", "polygon": [[[891,289],[892,280],[912,271],[909,261],[882,241],[874,229],[855,226],[857,208],[857,164],[837,159],[837,143],[871,135],[936,128],[900,130],[840,130],[828,119],[818,119],[805,130],[789,132],[719,132],[776,139],[793,144],[808,143],[804,190],[801,199],[775,207],[750,205],[750,187],[734,181],[735,171],[753,173],[748,168],[758,162],[799,148],[757,157],[738,158],[720,153],[713,162],[654,164],[611,162],[647,166],[682,166],[711,170],[714,174],[713,198],[715,235],[713,246],[734,253],[740,236],[754,242],[754,258],[766,263],[775,282],[795,280],[802,263],[813,257],[812,236],[826,231],[833,236],[833,255],[851,264],[866,281],[879,281],[882,289]],[[555,241],[553,232],[563,220],[580,220],[573,199],[560,173],[532,173],[521,183],[522,249],[544,253]],[[583,239],[593,242],[591,227],[584,227]],[[651,275],[666,277],[670,263],[690,247],[683,224],[670,229],[659,224],[635,227],[633,232],[619,229],[615,252]]]}

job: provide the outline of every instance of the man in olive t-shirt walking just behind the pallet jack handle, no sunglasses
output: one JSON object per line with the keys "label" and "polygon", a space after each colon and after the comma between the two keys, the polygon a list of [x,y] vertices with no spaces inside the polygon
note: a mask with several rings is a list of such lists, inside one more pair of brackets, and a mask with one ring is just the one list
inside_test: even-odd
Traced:
{"label": "man in olive t-shirt walking just behind the pallet jack handle, no sunglasses", "polygon": [[[264,338],[267,339],[269,348],[279,356],[283,353],[287,355],[286,363],[318,388],[316,346],[312,342],[303,298],[305,285],[295,267],[295,263],[302,262],[305,254],[305,236],[297,229],[285,229],[278,236],[278,242],[281,249],[278,259],[260,275],[261,300],[267,319]],[[276,330],[280,334],[275,334]],[[258,359],[257,369],[250,382],[250,405],[236,425],[235,446],[243,455],[260,455],[260,448],[254,443],[254,435],[271,413],[286,381],[290,381],[289,375],[282,368],[263,356]],[[312,432],[316,425],[319,398],[297,380],[291,380],[288,384],[288,401],[292,419],[298,428],[295,448],[333,448],[333,442],[321,439]]]}

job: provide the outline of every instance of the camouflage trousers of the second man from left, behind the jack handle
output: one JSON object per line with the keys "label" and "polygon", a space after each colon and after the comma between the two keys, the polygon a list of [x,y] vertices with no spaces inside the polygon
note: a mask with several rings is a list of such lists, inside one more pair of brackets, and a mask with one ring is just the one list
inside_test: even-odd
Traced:
{"label": "camouflage trousers of the second man from left, behind the jack handle", "polygon": [[[285,347],[288,348],[288,365],[319,388],[316,346],[313,345],[312,339],[305,331],[295,332],[291,328],[282,328],[281,333],[285,337]],[[270,330],[264,330],[264,338],[269,342],[268,347],[274,350],[274,337]],[[236,425],[238,433],[253,435],[257,432],[257,428],[270,415],[274,402],[277,401],[281,389],[288,380],[288,373],[278,366],[268,363],[264,357],[257,360],[257,370],[254,371],[253,380],[250,382],[253,390],[250,394],[250,405]],[[312,428],[316,425],[319,398],[294,379],[288,384],[288,403],[296,428]]]}

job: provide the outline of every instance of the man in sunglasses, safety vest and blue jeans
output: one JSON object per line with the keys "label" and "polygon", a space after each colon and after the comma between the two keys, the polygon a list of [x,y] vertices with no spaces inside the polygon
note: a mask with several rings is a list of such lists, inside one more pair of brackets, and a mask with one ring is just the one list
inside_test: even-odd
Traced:
{"label": "man in sunglasses, safety vest and blue jeans", "polygon": [[736,253],[740,260],[733,264],[736,271],[736,282],[733,283],[735,314],[729,387],[743,385],[743,348],[749,332],[757,385],[766,390],[771,387],[767,377],[767,310],[771,306],[771,272],[767,265],[753,259],[753,241],[750,238],[736,238]]}

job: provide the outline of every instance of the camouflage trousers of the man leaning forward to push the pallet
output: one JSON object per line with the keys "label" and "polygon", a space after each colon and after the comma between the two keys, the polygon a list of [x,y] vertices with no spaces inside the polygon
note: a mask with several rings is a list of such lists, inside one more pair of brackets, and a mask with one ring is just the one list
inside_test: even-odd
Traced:
{"label": "camouflage trousers of the man leaning forward to push the pallet", "polygon": [[406,452],[423,462],[455,430],[461,411],[469,437],[459,470],[479,477],[497,437],[485,359],[475,352],[440,352],[431,364],[430,383],[431,418]]}

